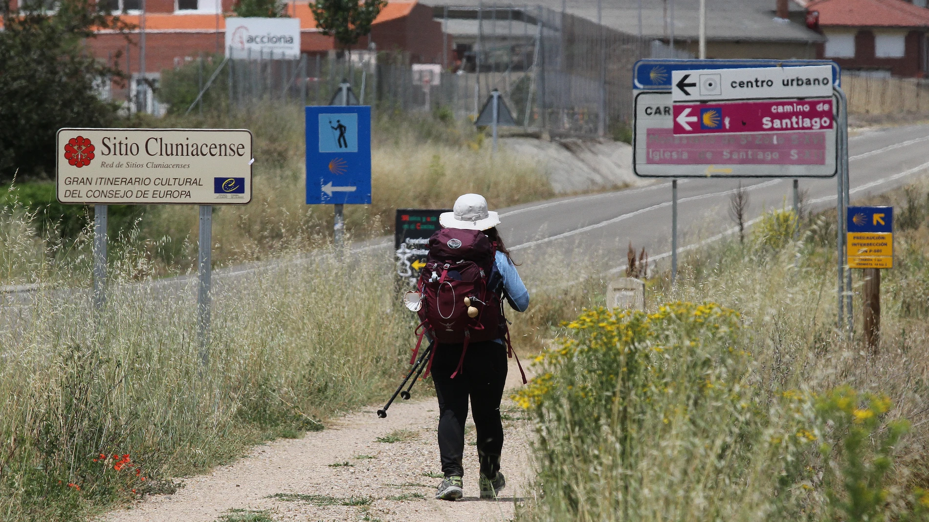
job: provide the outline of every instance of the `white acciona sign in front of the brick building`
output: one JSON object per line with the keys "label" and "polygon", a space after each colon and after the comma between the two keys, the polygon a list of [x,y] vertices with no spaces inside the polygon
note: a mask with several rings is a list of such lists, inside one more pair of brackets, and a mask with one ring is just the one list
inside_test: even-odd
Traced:
{"label": "white acciona sign in front of the brick building", "polygon": [[229,17],[226,54],[239,59],[299,58],[300,19]]}

